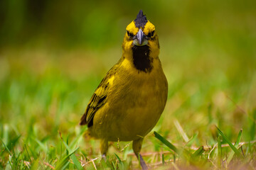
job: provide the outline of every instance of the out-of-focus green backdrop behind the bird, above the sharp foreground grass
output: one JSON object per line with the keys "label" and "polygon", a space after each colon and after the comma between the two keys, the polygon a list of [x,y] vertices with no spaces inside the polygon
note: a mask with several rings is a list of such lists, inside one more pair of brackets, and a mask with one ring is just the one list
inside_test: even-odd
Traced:
{"label": "out-of-focus green backdrop behind the bird, above the sharp foreground grass", "polygon": [[255,139],[255,6],[253,0],[1,0],[1,139],[21,135],[29,145],[32,136],[54,144],[58,130],[77,135],[80,116],[121,57],[125,28],[140,9],[156,26],[169,81],[156,130],[180,141],[177,119],[188,137],[198,133],[198,146],[211,140],[213,124],[230,139],[240,128],[243,140]]}

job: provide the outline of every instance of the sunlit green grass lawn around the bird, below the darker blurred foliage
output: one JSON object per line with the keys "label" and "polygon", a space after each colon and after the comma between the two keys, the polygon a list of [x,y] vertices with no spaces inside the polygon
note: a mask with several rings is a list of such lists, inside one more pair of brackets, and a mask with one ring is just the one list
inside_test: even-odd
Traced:
{"label": "sunlit green grass lawn around the bird, below the darker blurred foliage", "polygon": [[[78,125],[80,116],[112,63],[107,62],[107,67],[102,64],[104,59],[97,56],[104,54],[94,54],[95,61],[70,54],[35,58],[31,53],[16,58],[12,56],[16,52],[4,53],[1,64],[6,68],[0,79],[1,169],[139,167],[130,142],[112,143],[105,162],[100,157],[99,142],[82,137],[86,127]],[[198,64],[203,67],[200,60]],[[76,67],[78,61],[95,67]],[[236,79],[216,73],[214,67],[205,70],[213,71],[206,77],[200,72],[193,75],[197,72],[193,67],[191,74],[187,68],[178,73],[183,61],[174,62],[172,69],[164,63],[169,98],[156,132],[144,140],[142,156],[146,163],[154,169],[253,169],[256,110],[251,103],[255,98],[255,72],[250,81],[238,77],[240,84],[233,84]]]}

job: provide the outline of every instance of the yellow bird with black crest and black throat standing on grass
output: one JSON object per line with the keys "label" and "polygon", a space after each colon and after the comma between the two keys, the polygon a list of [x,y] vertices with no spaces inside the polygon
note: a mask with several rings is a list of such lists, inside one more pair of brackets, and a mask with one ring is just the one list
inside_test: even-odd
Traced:
{"label": "yellow bird with black crest and black throat standing on grass", "polygon": [[122,57],[90,98],[80,125],[87,125],[88,134],[101,140],[103,158],[109,141],[133,141],[134,154],[142,169],[147,169],[139,152],[144,137],[164,111],[168,84],[159,60],[155,26],[142,10],[126,30]]}

